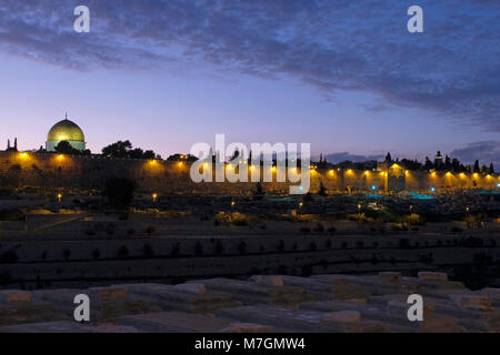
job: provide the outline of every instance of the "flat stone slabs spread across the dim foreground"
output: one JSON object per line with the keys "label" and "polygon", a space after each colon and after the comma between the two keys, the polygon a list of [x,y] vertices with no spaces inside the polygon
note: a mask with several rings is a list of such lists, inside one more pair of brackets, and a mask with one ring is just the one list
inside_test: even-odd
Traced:
{"label": "flat stone slabs spread across the dim foreground", "polygon": [[[73,320],[78,294],[90,298],[84,324]],[[422,322],[408,318],[410,294],[423,297]],[[442,273],[402,277],[386,272],[0,291],[0,332],[500,332],[500,290],[470,291]]]}

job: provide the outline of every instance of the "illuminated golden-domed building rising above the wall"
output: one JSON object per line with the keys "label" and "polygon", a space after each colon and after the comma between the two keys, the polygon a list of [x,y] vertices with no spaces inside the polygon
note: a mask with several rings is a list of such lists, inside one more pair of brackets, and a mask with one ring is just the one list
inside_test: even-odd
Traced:
{"label": "illuminated golden-domed building rising above the wall", "polygon": [[66,119],[52,125],[47,135],[46,150],[48,152],[56,152],[56,148],[62,141],[71,144],[71,146],[78,151],[86,150],[86,139],[83,131],[77,123]]}

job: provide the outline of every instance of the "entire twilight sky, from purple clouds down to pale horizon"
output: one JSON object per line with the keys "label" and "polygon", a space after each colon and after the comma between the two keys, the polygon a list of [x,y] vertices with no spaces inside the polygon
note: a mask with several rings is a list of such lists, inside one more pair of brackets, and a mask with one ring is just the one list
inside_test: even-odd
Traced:
{"label": "entire twilight sky, from purple clouds down to pale horizon", "polygon": [[500,166],[499,52],[498,0],[1,0],[0,144],[38,149],[68,112],[94,153],[128,139],[167,158],[224,133],[332,162]]}

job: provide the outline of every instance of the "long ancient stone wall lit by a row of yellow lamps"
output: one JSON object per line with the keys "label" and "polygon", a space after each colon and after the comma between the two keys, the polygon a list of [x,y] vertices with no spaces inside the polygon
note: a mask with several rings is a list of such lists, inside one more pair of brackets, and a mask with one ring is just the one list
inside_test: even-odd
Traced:
{"label": "long ancient stone wall lit by a row of yellow lamps", "polygon": [[[0,152],[0,186],[47,186],[101,189],[110,176],[130,176],[143,192],[171,194],[251,194],[256,183],[194,183],[188,163],[74,156],[52,153]],[[250,174],[249,174],[250,175]],[[276,172],[273,173],[276,181]],[[407,171],[394,176],[389,171],[313,170],[311,192],[321,183],[329,193],[356,191],[430,191],[457,189],[498,190],[500,178],[483,174],[451,174]],[[249,179],[250,180],[250,179]],[[267,193],[288,194],[289,182],[263,183]]]}

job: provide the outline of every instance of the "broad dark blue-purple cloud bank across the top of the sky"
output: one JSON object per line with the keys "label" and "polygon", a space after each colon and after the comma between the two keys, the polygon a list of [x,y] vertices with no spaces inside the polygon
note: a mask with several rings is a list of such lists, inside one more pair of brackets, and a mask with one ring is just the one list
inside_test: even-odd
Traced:
{"label": "broad dark blue-purple cloud bank across the top of the sky", "polygon": [[406,0],[83,2],[90,34],[72,32],[74,1],[2,0],[0,50],[82,71],[290,77],[329,99],[370,92],[500,132],[499,1],[420,1],[421,34],[406,29]]}

